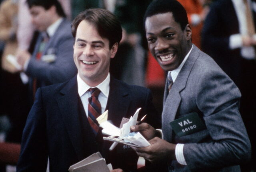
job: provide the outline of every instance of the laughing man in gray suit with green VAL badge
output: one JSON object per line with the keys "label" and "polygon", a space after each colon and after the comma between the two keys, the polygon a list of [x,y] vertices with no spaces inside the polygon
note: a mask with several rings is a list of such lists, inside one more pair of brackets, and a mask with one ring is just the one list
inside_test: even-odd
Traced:
{"label": "laughing man in gray suit with green VAL badge", "polygon": [[[131,127],[151,143],[133,149],[175,172],[239,172],[250,141],[239,113],[240,91],[214,60],[191,41],[186,11],[175,0],[155,0],[144,16],[148,47],[168,71],[162,132]],[[160,139],[162,138],[162,139]]]}

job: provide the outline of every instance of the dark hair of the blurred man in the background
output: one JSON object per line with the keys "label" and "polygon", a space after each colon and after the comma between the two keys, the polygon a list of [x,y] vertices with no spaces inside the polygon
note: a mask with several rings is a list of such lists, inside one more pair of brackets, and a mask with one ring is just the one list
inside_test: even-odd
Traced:
{"label": "dark hair of the blurred man in the background", "polygon": [[32,6],[42,6],[45,10],[49,10],[51,6],[55,6],[57,14],[60,17],[66,17],[66,14],[58,0],[27,0],[26,2],[29,8],[32,8]]}

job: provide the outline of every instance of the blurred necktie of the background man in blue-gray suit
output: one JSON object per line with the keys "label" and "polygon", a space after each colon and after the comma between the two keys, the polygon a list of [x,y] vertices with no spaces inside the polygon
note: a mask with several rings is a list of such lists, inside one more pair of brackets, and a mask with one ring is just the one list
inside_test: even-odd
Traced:
{"label": "blurred necktie of the background man in blue-gray suit", "polygon": [[[38,52],[36,53],[36,60],[40,60],[42,57],[42,53],[44,51],[45,45],[47,44],[47,42],[49,41],[49,35],[47,34],[47,32],[43,32],[42,33],[42,41],[39,45],[39,49]],[[36,94],[36,89],[38,88],[38,83],[36,78],[33,79],[33,97],[35,98],[35,94]]]}

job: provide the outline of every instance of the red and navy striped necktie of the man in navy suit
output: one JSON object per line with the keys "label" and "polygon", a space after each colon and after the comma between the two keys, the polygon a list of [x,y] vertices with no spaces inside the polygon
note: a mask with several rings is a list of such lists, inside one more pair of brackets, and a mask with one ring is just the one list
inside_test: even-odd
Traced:
{"label": "red and navy striped necktie of the man in navy suit", "polygon": [[94,134],[97,135],[100,127],[96,118],[101,115],[101,105],[98,100],[100,90],[98,88],[90,88],[88,91],[91,93],[91,97],[88,98],[88,121],[94,131]]}

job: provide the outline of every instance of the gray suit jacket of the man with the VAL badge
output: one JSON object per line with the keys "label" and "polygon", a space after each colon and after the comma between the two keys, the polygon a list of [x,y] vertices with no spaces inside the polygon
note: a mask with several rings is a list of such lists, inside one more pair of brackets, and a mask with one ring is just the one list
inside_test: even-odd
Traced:
{"label": "gray suit jacket of the man with the VAL badge", "polygon": [[[250,159],[250,141],[239,113],[240,91],[214,60],[195,45],[170,93],[166,85],[162,130],[170,143],[184,143],[187,166],[169,162],[175,172],[239,172]],[[178,137],[170,122],[196,112],[205,129]]]}

